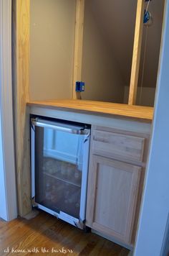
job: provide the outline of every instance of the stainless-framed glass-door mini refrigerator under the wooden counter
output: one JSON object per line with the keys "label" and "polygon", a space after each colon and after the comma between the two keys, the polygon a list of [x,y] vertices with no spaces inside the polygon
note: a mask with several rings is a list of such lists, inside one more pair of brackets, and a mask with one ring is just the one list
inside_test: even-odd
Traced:
{"label": "stainless-framed glass-door mini refrigerator under the wooden counter", "polygon": [[32,206],[84,229],[89,150],[89,125],[32,118]]}

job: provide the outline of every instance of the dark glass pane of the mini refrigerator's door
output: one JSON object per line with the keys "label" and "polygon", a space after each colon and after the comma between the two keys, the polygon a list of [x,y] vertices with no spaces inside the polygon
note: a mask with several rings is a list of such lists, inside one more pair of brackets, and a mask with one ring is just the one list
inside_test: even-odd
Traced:
{"label": "dark glass pane of the mini refrigerator's door", "polygon": [[84,135],[35,127],[35,201],[79,219]]}

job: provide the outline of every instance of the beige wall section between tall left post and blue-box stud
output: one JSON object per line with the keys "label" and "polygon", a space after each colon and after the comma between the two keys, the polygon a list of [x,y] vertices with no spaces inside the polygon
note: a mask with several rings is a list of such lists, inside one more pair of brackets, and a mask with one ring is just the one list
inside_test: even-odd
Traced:
{"label": "beige wall section between tall left post and blue-box stud", "polygon": [[70,99],[76,1],[30,2],[30,99]]}

